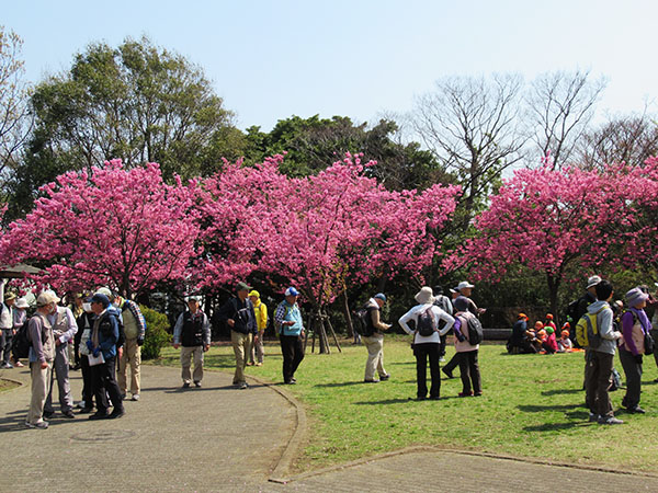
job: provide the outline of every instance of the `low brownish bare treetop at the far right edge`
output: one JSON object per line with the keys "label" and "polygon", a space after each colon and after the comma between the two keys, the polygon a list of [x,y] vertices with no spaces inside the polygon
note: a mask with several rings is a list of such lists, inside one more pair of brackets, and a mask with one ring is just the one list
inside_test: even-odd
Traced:
{"label": "low brownish bare treetop at the far right edge", "polygon": [[586,168],[626,162],[642,164],[658,153],[658,126],[645,113],[610,119],[583,136],[578,162]]}

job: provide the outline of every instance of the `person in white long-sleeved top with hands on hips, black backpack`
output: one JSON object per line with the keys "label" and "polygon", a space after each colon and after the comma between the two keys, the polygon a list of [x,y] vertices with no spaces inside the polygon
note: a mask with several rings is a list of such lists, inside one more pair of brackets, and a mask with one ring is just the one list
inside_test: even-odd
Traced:
{"label": "person in white long-sleeved top with hands on hips, black backpack", "polygon": [[[422,401],[428,395],[428,358],[430,359],[430,376],[432,386],[430,399],[439,400],[441,397],[441,371],[439,367],[439,344],[441,335],[455,323],[455,319],[434,305],[432,288],[423,286],[415,296],[418,305],[400,317],[398,323],[408,334],[413,335],[413,356],[416,356],[416,399]],[[411,330],[408,322],[416,322],[416,330]],[[445,324],[440,330],[439,323]]]}

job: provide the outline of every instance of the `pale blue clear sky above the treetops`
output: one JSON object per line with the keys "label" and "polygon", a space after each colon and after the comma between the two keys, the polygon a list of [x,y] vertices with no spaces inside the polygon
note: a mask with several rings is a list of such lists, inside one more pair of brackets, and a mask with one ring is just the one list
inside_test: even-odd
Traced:
{"label": "pale blue clear sky above the treetops", "polygon": [[605,76],[599,118],[655,112],[658,2],[16,1],[0,24],[24,39],[26,77],[70,68],[97,41],[148,35],[203,67],[238,126],[293,114],[373,122],[406,112],[443,76],[589,69]]}

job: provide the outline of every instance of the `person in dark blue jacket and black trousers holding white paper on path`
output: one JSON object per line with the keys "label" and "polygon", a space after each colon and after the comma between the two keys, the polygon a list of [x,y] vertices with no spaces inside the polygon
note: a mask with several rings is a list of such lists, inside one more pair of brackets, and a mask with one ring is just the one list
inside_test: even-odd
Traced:
{"label": "person in dark blue jacket and black trousers holding white paper on path", "polygon": [[[110,298],[97,293],[91,298],[91,310],[97,318],[93,321],[91,339],[87,342],[91,355],[93,394],[97,412],[90,420],[116,419],[125,414],[121,391],[116,383],[116,341],[118,340],[118,322],[114,313],[109,312]],[[102,356],[102,357],[101,357]],[[99,360],[100,358],[100,360]],[[114,409],[107,412],[107,394]]]}

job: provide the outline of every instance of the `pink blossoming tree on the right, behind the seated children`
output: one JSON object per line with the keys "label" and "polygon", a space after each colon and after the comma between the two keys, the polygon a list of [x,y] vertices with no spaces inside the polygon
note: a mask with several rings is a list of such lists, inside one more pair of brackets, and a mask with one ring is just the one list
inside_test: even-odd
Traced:
{"label": "pink blossoming tree on the right, behind the seated children", "polygon": [[518,266],[543,273],[556,313],[557,293],[570,266],[598,266],[617,254],[611,248],[616,240],[606,231],[624,214],[619,190],[613,175],[598,171],[556,171],[549,163],[519,170],[476,217],[476,237],[445,266],[468,266],[475,279],[492,282]]}

